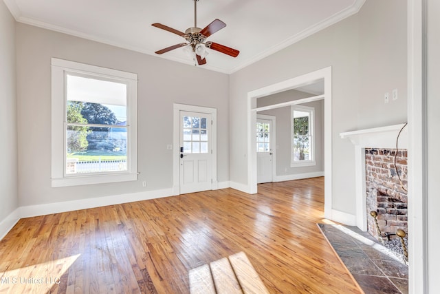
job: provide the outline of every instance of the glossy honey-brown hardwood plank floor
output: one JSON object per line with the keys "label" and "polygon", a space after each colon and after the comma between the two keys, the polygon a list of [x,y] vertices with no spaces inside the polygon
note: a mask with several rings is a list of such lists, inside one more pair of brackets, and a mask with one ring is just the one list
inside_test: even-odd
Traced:
{"label": "glossy honey-brown hardwood plank floor", "polygon": [[320,233],[324,178],[25,218],[0,242],[0,293],[189,293],[243,251],[270,293],[361,293]]}

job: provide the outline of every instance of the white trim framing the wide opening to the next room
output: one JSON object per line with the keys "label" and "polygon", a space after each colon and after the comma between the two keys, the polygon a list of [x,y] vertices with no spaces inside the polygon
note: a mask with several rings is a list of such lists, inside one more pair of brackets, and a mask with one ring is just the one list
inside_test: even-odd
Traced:
{"label": "white trim framing the wide opening to the next room", "polygon": [[271,94],[292,90],[297,87],[314,83],[324,78],[324,157],[325,157],[325,196],[324,196],[324,216],[331,219],[332,203],[332,144],[331,144],[331,66],[322,70],[316,70],[309,74],[303,74],[296,78],[290,78],[274,85],[262,87],[248,92],[248,193],[257,193],[256,186],[256,139],[254,129],[256,124],[256,99]]}

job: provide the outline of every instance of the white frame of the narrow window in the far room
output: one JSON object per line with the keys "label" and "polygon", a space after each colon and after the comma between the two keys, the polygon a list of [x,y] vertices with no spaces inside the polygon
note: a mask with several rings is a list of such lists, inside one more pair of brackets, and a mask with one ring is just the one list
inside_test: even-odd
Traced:
{"label": "white frame of the narrow window in the far room", "polygon": [[[309,136],[311,138],[309,156],[311,159],[308,160],[295,160],[294,153],[294,112],[307,112],[309,113]],[[292,105],[290,107],[290,167],[309,167],[316,165],[315,159],[315,107],[305,106],[305,105]]]}

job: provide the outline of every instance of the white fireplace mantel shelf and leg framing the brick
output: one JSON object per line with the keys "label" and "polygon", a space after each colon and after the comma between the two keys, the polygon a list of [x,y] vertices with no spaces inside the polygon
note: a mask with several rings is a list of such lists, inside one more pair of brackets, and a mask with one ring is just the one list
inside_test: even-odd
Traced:
{"label": "white fireplace mantel shelf and leg framing the brick", "polygon": [[[360,129],[352,132],[340,133],[341,138],[347,138],[355,148],[355,179],[356,179],[356,226],[366,231],[366,191],[365,191],[365,148],[395,149],[397,136],[404,127],[388,125],[372,129]],[[408,148],[408,128],[402,129],[399,136],[399,149]]]}

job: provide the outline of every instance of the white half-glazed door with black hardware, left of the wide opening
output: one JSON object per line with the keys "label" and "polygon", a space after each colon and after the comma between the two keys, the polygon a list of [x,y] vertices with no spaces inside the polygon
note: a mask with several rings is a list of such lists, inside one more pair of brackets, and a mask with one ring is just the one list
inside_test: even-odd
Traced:
{"label": "white half-glazed door with black hardware, left of the wide opening", "polygon": [[212,189],[211,114],[180,112],[180,193]]}

